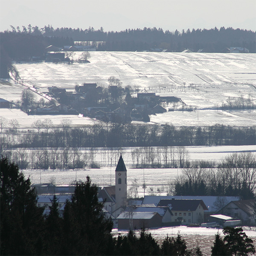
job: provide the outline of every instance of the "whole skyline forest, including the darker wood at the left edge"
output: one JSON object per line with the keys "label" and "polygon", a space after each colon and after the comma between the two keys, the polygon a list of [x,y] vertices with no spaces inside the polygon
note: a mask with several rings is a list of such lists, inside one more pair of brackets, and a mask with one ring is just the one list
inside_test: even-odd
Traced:
{"label": "whole skyline forest, including the darker wood at the left edge", "polygon": [[10,59],[29,60],[32,56],[43,56],[49,45],[64,47],[73,45],[74,41],[87,41],[96,46],[98,51],[145,51],[156,48],[167,49],[169,52],[181,52],[184,49],[203,52],[227,52],[226,48],[246,47],[256,52],[256,32],[247,29],[183,29],[163,31],[156,27],[144,29],[125,29],[119,32],[104,32],[104,29],[72,29],[52,26],[27,27],[11,26],[12,30],[0,33],[1,66],[0,77],[9,78]]}

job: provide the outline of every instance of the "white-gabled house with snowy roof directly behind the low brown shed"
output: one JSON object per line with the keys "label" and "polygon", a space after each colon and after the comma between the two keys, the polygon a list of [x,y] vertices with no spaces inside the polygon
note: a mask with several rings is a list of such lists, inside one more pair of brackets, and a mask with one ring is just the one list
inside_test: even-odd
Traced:
{"label": "white-gabled house with snowy roof directly behind the low brown shed", "polygon": [[170,223],[172,222],[172,211],[169,207],[157,207],[157,206],[136,206],[134,212],[157,212],[160,216],[162,216],[162,223]]}

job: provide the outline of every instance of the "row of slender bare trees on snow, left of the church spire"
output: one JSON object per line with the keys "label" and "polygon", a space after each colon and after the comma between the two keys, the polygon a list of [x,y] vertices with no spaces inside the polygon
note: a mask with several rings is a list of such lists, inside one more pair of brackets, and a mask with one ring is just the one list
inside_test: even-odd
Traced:
{"label": "row of slender bare trees on snow, left of the church spire", "polygon": [[84,169],[116,165],[121,148],[19,148],[1,154],[18,164],[20,169]]}

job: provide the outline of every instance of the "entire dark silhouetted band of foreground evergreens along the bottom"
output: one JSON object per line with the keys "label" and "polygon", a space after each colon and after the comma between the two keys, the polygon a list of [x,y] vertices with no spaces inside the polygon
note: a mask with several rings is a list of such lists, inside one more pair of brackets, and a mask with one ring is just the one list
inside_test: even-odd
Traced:
{"label": "entire dark silhouetted band of foreground evergreens along the bottom", "polygon": [[[130,231],[128,236],[114,238],[113,223],[102,212],[98,188],[91,184],[90,177],[76,183],[62,214],[56,195],[49,214],[43,213],[29,178],[26,180],[7,158],[0,160],[0,184],[2,255],[203,255],[199,246],[188,248],[179,234],[167,236],[162,244],[157,244],[145,228],[140,236]],[[212,256],[255,253],[253,240],[241,228],[226,227],[223,232],[224,239],[215,236]]]}

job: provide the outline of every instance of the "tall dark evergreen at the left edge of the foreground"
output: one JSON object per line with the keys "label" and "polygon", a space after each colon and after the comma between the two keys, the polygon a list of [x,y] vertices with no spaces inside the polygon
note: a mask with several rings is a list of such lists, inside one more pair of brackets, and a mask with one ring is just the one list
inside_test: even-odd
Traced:
{"label": "tall dark evergreen at the left edge of the foreground", "polygon": [[40,255],[43,253],[43,208],[29,178],[7,158],[0,160],[1,254]]}

